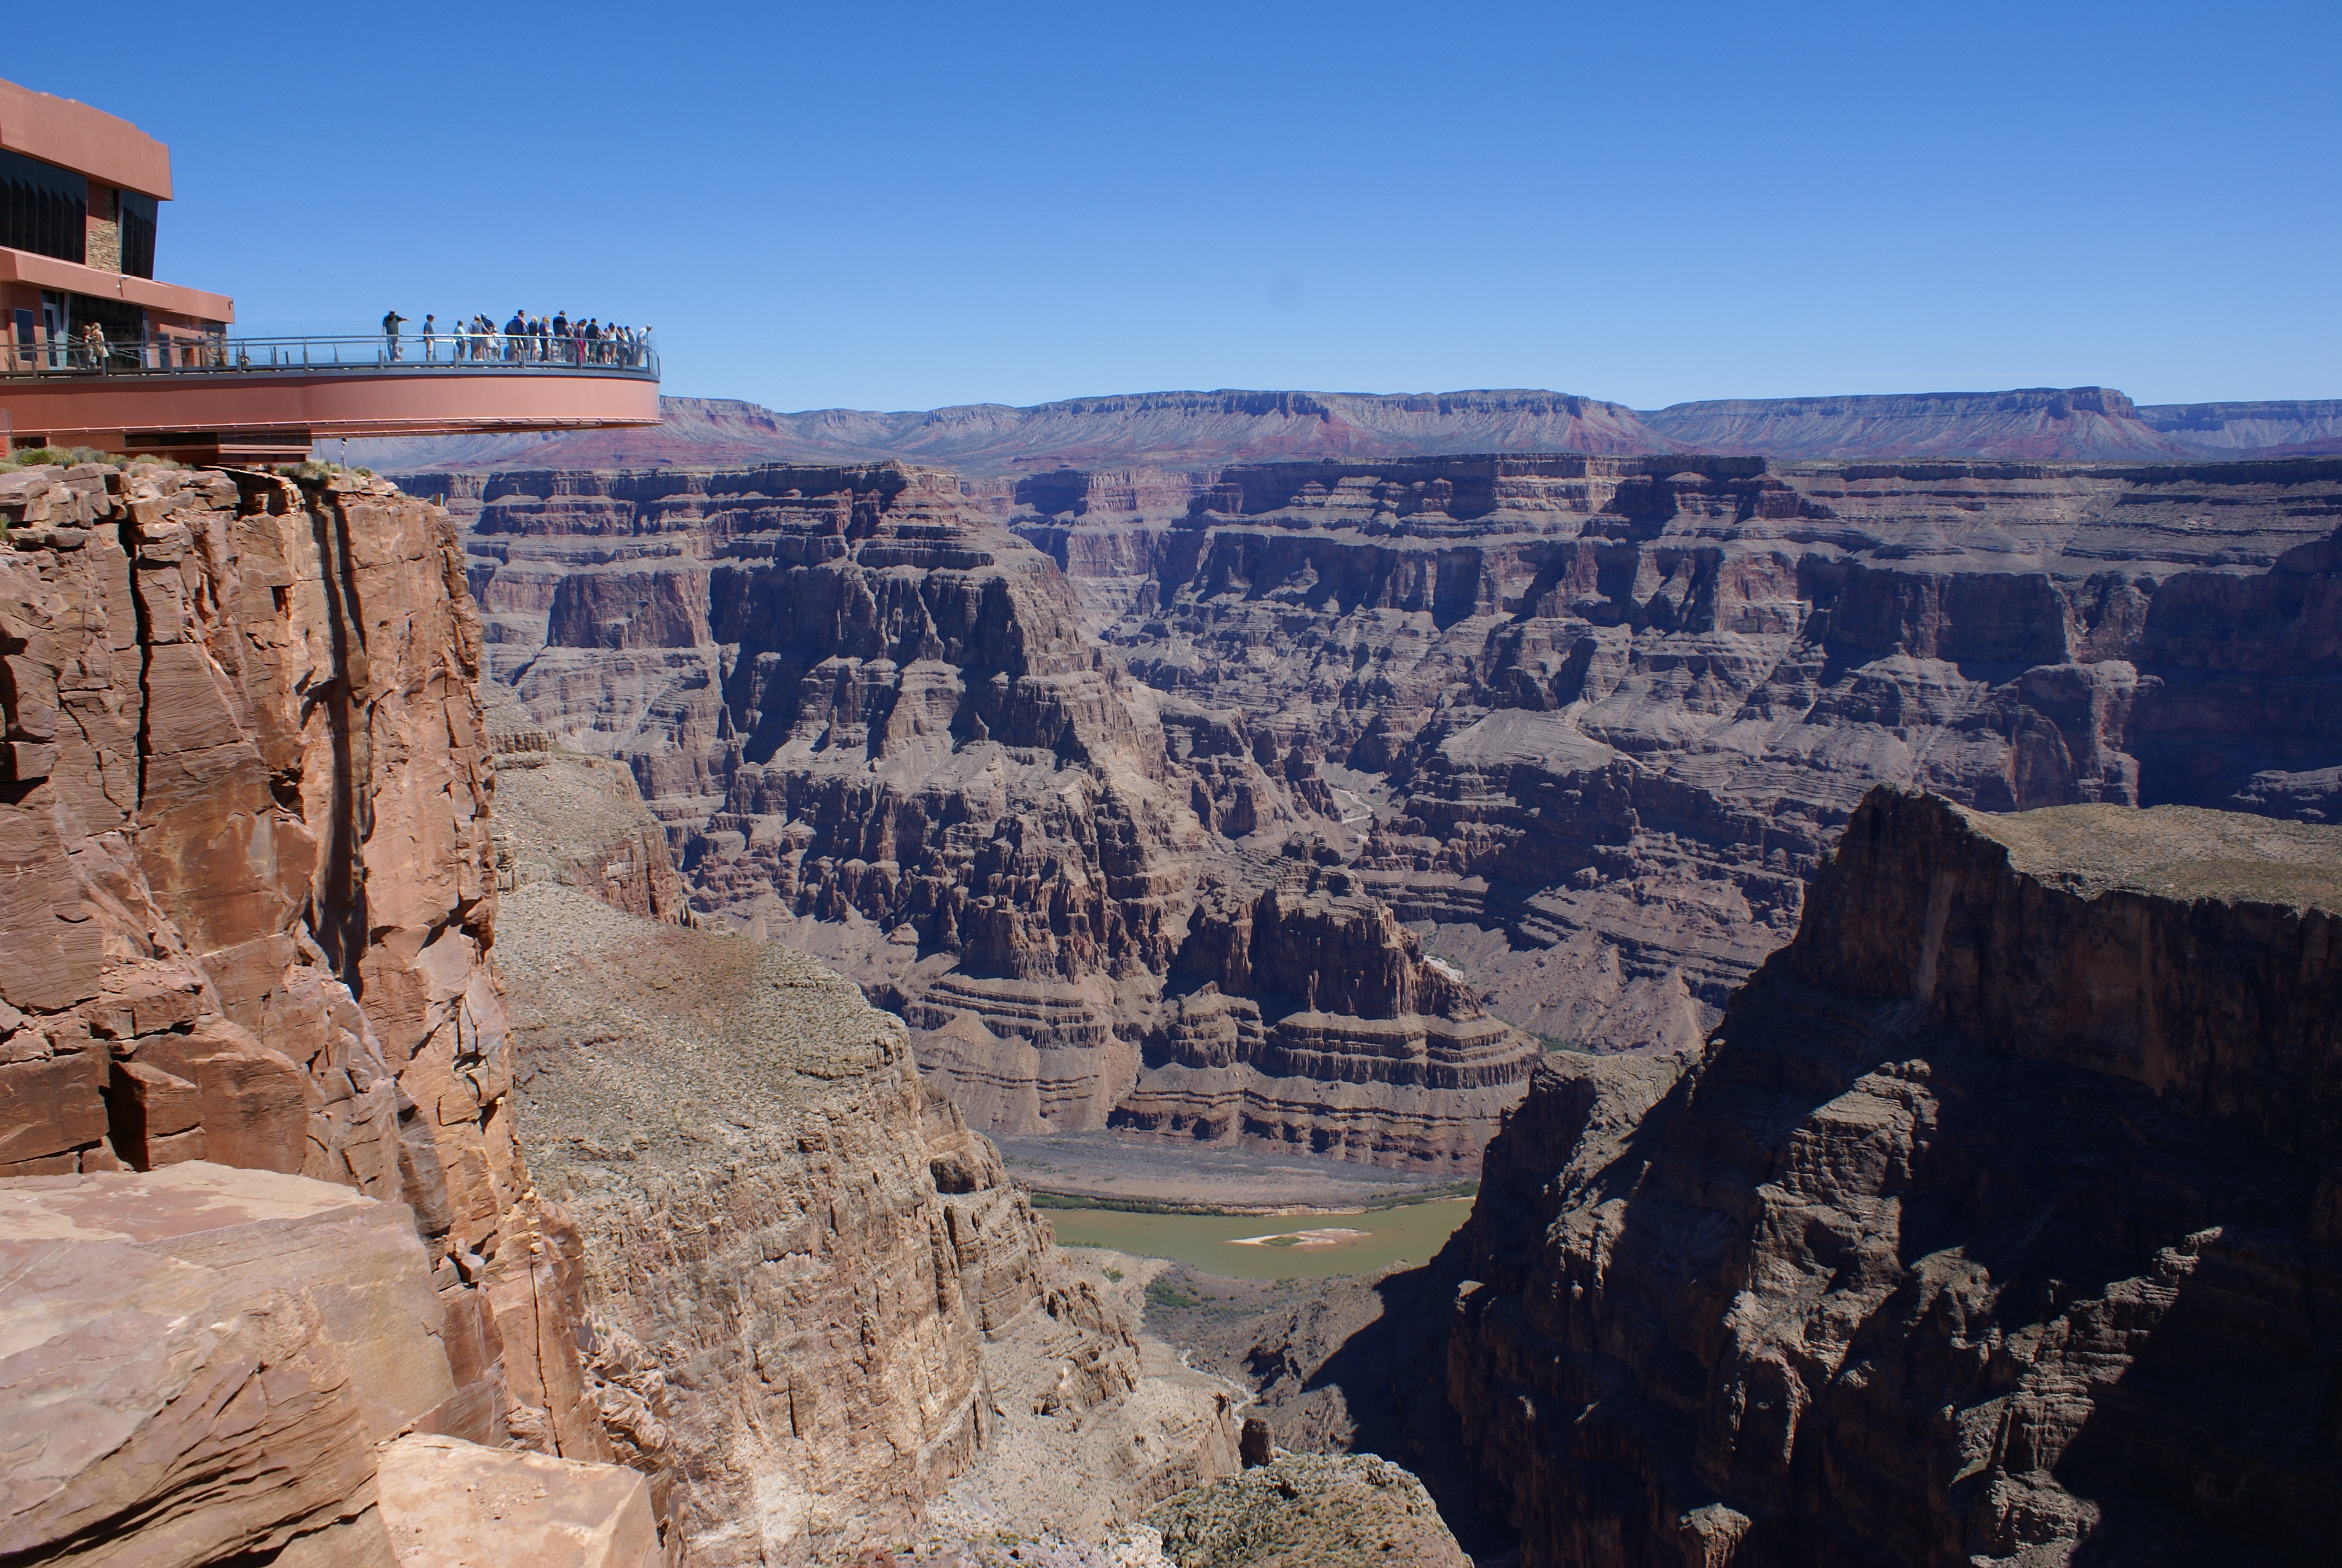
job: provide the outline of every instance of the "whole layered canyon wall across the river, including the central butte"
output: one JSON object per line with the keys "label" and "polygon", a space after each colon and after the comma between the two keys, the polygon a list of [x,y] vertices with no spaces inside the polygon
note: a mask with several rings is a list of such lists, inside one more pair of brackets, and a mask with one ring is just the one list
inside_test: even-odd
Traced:
{"label": "whole layered canyon wall across the river, including the central butte", "polygon": [[1045,478],[506,473],[466,544],[698,907],[993,1130],[1459,1165],[1520,1031],[1698,1043],[1874,783],[2342,809],[2333,459]]}

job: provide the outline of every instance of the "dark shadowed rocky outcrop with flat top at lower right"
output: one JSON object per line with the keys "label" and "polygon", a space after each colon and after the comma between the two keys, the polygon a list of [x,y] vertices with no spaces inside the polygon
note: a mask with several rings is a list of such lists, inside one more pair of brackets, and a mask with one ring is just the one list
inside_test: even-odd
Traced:
{"label": "dark shadowed rocky outcrop with flat top at lower right", "polygon": [[2342,827],[1881,790],[1675,1055],[1550,1057],[1443,1266],[1525,1568],[2323,1556]]}

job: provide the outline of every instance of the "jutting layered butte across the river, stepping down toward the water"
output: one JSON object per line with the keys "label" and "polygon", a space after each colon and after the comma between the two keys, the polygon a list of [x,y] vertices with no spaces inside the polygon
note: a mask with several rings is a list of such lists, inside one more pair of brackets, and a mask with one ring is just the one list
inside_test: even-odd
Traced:
{"label": "jutting layered butte across the river, stepping down toward the water", "polygon": [[[543,745],[623,759],[698,914],[897,1008],[979,1125],[1119,1116],[1468,1170],[1518,1097],[1532,1041],[1370,895],[1300,886],[1340,834],[1312,748],[1159,713],[1063,572],[949,476],[499,476],[471,551]],[[1326,935],[1269,921],[1213,970],[1260,898]],[[1372,1001],[1312,998],[1335,954]],[[1194,1078],[1173,1036],[1206,984],[1255,1027]]]}

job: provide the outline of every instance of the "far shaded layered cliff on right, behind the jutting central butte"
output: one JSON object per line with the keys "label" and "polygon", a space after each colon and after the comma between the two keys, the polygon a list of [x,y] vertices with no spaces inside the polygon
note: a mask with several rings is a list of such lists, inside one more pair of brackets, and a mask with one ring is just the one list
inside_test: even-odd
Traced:
{"label": "far shaded layered cliff on right, behind the jutting central butte", "polygon": [[1672,1048],[1878,780],[2337,813],[2337,520],[2330,459],[1267,464],[1134,525],[1105,638],[1492,1013]]}

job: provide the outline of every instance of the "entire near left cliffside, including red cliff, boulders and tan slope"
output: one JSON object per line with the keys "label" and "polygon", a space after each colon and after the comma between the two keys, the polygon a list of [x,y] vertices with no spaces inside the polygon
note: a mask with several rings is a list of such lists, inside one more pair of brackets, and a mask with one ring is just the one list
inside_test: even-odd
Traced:
{"label": "entire near left cliffside, including red cliff, boulders and tan slope", "polygon": [[810,1563],[1061,1427],[1101,1528],[1234,1467],[897,1020],[689,930],[625,769],[492,734],[440,509],[0,509],[0,1559]]}

